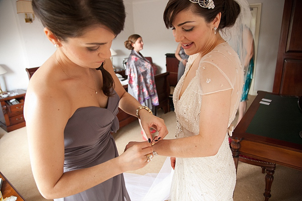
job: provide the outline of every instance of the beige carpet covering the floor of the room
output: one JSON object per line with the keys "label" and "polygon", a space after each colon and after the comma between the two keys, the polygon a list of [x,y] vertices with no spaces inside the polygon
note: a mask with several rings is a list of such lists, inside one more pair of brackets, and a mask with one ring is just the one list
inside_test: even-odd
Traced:
{"label": "beige carpet covering the floor of the room", "polygon": [[[250,97],[248,104],[254,99]],[[169,134],[166,138],[174,138],[176,117],[174,112],[159,116],[165,120]],[[235,120],[237,121],[237,120]],[[33,179],[31,172],[26,128],[21,128],[10,133],[0,129],[0,171],[11,181],[27,201],[42,201],[44,199]],[[121,128],[114,134],[116,145],[120,153],[129,141],[141,141],[138,122]],[[147,166],[131,173],[145,174],[159,172],[166,157],[156,156]],[[239,163],[237,184],[234,192],[235,201],[264,200],[265,174],[261,168],[245,163]],[[302,200],[302,171],[277,165],[274,181],[271,188],[270,201],[298,201]],[[185,201],[185,200],[181,200]]]}

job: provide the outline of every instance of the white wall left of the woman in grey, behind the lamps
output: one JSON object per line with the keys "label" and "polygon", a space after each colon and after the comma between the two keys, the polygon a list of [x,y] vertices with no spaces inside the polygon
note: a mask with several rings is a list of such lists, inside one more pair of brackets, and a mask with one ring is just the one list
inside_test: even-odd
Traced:
{"label": "white wall left of the woman in grey, behind the lamps", "polygon": [[37,19],[25,23],[25,15],[17,14],[16,2],[0,0],[0,65],[8,71],[2,75],[7,90],[26,89],[29,80],[25,68],[42,65],[55,51]]}

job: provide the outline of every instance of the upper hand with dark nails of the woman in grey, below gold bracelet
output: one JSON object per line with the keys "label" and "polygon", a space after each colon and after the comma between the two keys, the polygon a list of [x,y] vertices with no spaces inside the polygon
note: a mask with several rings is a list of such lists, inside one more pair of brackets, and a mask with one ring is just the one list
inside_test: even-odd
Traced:
{"label": "upper hand with dark nails of the woman in grey, below gold bracelet", "polygon": [[163,119],[157,116],[151,115],[146,110],[139,111],[139,117],[141,120],[141,126],[145,131],[149,142],[153,141],[152,134],[150,133],[150,128],[153,128],[159,132],[158,139],[161,140],[168,134],[168,129],[165,125]]}

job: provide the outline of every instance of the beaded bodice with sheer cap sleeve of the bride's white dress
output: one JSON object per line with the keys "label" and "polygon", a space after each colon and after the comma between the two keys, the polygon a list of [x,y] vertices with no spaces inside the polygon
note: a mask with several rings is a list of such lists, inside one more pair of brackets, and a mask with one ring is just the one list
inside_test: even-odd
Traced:
{"label": "beaded bodice with sheer cap sleeve of the bride's white dress", "polygon": [[239,106],[239,96],[243,88],[243,69],[237,53],[228,43],[216,46],[202,57],[195,77],[179,98],[185,77],[196,57],[197,54],[189,57],[185,72],[174,89],[173,103],[177,121],[180,123],[177,129],[185,128],[188,131],[187,134],[177,132],[178,137],[199,133],[202,95],[232,88],[229,126],[235,119]]}

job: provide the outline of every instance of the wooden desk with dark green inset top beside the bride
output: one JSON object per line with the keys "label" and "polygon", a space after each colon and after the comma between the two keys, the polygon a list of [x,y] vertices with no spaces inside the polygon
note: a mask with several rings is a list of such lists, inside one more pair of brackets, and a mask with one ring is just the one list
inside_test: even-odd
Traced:
{"label": "wooden desk with dark green inset top beside the bride", "polygon": [[[262,98],[272,99],[271,104],[260,104]],[[272,112],[272,107],[277,110]],[[239,154],[242,154],[302,170],[302,138],[299,137],[301,130],[302,112],[298,109],[297,98],[258,91],[254,102],[231,137],[236,169]],[[265,200],[268,200],[274,168],[266,172],[266,180],[270,182],[266,183],[264,196]]]}

